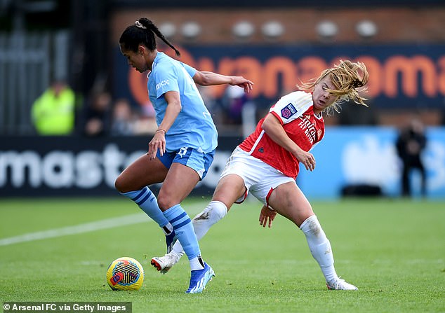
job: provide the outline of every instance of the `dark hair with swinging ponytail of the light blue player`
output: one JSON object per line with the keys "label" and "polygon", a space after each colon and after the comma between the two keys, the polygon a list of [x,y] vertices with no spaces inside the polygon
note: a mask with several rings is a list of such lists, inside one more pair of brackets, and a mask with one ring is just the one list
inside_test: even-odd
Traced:
{"label": "dark hair with swinging ponytail of the light blue player", "polygon": [[167,46],[175,50],[177,56],[180,55],[178,49],[173,46],[170,41],[159,31],[158,27],[147,18],[140,18],[135,22],[135,25],[128,26],[121,34],[119,44],[125,49],[133,52],[138,51],[140,44],[146,46],[150,50],[157,48],[156,39],[154,35],[158,36]]}

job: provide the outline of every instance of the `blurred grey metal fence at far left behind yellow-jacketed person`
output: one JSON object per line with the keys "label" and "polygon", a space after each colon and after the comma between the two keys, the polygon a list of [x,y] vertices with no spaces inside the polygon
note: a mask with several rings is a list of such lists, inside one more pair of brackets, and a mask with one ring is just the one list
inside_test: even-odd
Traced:
{"label": "blurred grey metal fence at far left behind yellow-jacketed person", "polygon": [[0,33],[0,134],[33,134],[31,106],[68,78],[69,32]]}

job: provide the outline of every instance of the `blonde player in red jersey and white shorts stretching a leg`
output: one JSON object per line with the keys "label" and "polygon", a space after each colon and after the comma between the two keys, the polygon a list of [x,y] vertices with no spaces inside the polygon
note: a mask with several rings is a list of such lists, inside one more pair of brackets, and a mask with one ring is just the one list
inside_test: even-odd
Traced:
{"label": "blonde player in red jersey and white shorts stretching a leg", "polygon": [[[315,158],[309,151],[324,137],[322,112],[339,111],[339,104],[348,99],[366,105],[359,91],[367,82],[368,71],[363,63],[340,61],[312,83],[304,84],[304,91],[281,97],[227,160],[212,201],[192,221],[197,238],[203,237],[232,204],[242,202],[250,192],[264,204],[261,225],[268,223],[271,227],[278,213],[303,231],[328,289],[357,290],[338,277],[331,243],[295,179],[300,163],[314,170]],[[152,258],[152,265],[166,273],[182,254],[177,242],[171,253]]]}

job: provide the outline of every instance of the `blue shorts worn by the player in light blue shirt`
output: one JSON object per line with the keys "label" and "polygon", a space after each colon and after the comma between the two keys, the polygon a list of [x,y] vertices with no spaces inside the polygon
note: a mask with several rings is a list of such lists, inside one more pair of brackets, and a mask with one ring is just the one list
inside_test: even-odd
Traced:
{"label": "blue shorts worn by the player in light blue shirt", "polygon": [[171,167],[172,163],[180,163],[194,169],[198,173],[199,180],[201,181],[206,177],[208,168],[213,162],[214,155],[215,150],[209,153],[204,153],[198,152],[194,148],[184,147],[180,148],[179,151],[166,152],[162,156],[159,154],[158,150],[156,157],[159,158],[162,164],[168,169]]}

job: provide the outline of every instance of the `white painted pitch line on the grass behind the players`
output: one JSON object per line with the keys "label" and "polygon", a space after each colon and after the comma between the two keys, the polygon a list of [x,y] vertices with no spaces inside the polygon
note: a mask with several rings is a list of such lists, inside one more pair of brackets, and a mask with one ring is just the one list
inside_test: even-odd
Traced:
{"label": "white painted pitch line on the grass behind the players", "polygon": [[[199,206],[202,208],[202,206]],[[187,206],[187,211],[197,211],[197,205]],[[190,210],[189,210],[190,209]],[[192,217],[192,216],[191,216]],[[67,235],[83,234],[84,232],[94,232],[96,230],[104,230],[119,226],[134,225],[153,221],[146,214],[137,213],[114,218],[107,218],[100,221],[84,223],[63,228],[54,228],[51,230],[43,230],[41,232],[28,232],[27,234],[0,239],[0,246],[8,246],[10,244],[20,244],[21,242],[32,242],[34,240],[62,237]]]}

